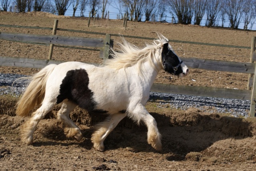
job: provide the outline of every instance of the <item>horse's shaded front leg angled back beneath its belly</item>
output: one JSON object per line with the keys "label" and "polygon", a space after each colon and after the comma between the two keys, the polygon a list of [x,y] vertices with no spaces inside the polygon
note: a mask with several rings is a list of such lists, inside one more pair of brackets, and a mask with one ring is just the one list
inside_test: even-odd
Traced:
{"label": "horse's shaded front leg angled back beneath its belly", "polygon": [[104,140],[110,134],[116,125],[126,117],[126,113],[116,113],[107,117],[107,119],[96,125],[97,131],[92,134],[92,143],[98,151],[104,151]]}

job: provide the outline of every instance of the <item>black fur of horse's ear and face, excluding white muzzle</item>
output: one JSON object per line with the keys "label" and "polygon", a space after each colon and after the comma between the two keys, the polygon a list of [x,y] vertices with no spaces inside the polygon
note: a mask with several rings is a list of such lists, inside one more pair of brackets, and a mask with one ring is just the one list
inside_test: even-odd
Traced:
{"label": "black fur of horse's ear and face, excluding white muzzle", "polygon": [[[178,66],[178,64],[180,64],[180,60],[178,58],[178,56],[172,52],[172,50],[170,50],[168,48],[168,43],[164,44],[163,46],[163,50],[162,50],[162,59],[164,59],[166,61],[166,68],[165,71],[169,72],[171,74],[174,73],[174,70],[172,67],[176,67]],[[178,70],[176,71],[176,75],[179,75],[180,73],[182,73],[182,68],[181,66],[178,67]]]}

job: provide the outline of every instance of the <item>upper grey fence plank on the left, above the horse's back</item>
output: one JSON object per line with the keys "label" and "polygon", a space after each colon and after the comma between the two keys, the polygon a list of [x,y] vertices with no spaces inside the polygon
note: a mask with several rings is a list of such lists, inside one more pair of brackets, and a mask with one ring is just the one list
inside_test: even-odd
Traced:
{"label": "upper grey fence plank on the left, above the horse's back", "polygon": [[15,42],[34,42],[34,43],[43,43],[43,44],[85,46],[85,47],[94,47],[94,48],[101,48],[102,46],[104,46],[104,40],[101,38],[82,38],[82,37],[75,37],[75,36],[0,32],[0,39],[10,40]]}

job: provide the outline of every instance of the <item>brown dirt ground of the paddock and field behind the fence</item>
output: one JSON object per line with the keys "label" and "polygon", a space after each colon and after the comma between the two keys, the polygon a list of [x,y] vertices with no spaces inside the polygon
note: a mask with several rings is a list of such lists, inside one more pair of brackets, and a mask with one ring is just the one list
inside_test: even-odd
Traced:
{"label": "brown dirt ground of the paddock and field behind the fence", "polygon": [[[0,24],[18,26],[52,27],[58,19],[58,28],[156,38],[162,33],[170,40],[183,40],[212,44],[250,47],[254,31],[206,28],[152,22],[128,22],[127,30],[122,20],[91,21],[87,18],[54,16],[42,12],[0,12]],[[0,32],[51,34],[51,30],[0,27]],[[100,35],[57,31],[59,35],[98,37]],[[112,37],[118,41],[118,37]],[[127,38],[143,47],[150,40]],[[170,42],[181,57],[249,62],[250,49],[221,48]],[[48,46],[22,44],[0,40],[0,56],[47,59]],[[99,53],[86,50],[54,48],[53,59],[100,63]],[[38,69],[0,67],[1,73],[34,74]],[[178,79],[161,71],[156,82],[177,85],[194,85],[246,89],[247,74],[191,69],[190,74]],[[254,171],[256,167],[256,119],[234,118],[223,113],[205,113],[198,109],[158,108],[150,101],[148,111],[156,118],[162,133],[162,152],[156,152],[146,142],[146,127],[137,126],[124,119],[105,140],[106,150],[93,149],[90,136],[94,117],[81,122],[84,114],[76,109],[74,121],[84,135],[81,142],[67,139],[63,125],[48,115],[40,121],[34,133],[34,144],[20,142],[19,126],[28,118],[14,114],[12,97],[0,97],[0,165],[1,170],[138,170],[138,171]],[[239,104],[238,104],[239,105]],[[86,115],[86,114],[84,114]],[[74,115],[73,115],[74,116]],[[53,117],[53,118],[52,118]],[[102,116],[104,117],[104,116]]]}

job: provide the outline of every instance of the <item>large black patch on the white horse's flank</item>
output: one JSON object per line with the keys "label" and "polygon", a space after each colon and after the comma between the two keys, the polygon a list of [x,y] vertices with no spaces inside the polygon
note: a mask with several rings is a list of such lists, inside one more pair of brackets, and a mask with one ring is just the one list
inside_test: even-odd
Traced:
{"label": "large black patch on the white horse's flank", "polygon": [[[97,105],[93,100],[93,92],[88,88],[89,77],[84,69],[70,70],[60,85],[60,94],[57,97],[57,103],[68,99],[78,104],[79,107],[93,111]],[[104,110],[96,110],[100,113],[106,113]]]}

